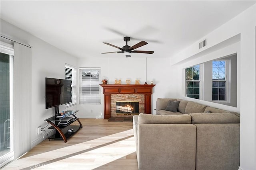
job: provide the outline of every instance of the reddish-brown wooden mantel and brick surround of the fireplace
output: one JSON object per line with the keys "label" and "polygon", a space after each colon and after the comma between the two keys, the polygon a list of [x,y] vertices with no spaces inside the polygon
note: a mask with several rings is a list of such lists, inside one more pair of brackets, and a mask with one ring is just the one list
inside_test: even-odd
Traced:
{"label": "reddish-brown wooden mantel and brick surround of the fireplace", "polygon": [[[104,119],[117,116],[114,113],[116,108],[112,100],[112,98],[116,97],[115,94],[118,94],[118,97],[123,96],[124,99],[128,98],[130,101],[134,101],[131,98],[137,98],[138,100],[144,98],[144,102],[139,101],[140,104],[144,104],[144,110],[140,106],[140,112],[151,114],[151,95],[155,84],[100,84],[100,86],[102,86],[104,94]],[[131,96],[127,96],[127,94]]]}

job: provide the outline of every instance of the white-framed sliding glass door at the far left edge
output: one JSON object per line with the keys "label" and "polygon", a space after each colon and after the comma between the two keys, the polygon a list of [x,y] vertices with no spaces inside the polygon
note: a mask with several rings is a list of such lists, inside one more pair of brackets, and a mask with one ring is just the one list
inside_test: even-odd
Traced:
{"label": "white-framed sliding glass door at the far left edge", "polygon": [[2,49],[2,45],[0,71],[0,167],[2,167],[14,158],[13,51],[8,51],[8,48]]}

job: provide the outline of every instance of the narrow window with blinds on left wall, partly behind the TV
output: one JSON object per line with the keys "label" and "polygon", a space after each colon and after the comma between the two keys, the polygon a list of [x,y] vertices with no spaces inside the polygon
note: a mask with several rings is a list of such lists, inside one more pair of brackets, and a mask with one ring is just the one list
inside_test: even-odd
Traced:
{"label": "narrow window with blinds on left wall, partly behind the TV", "polygon": [[71,102],[66,104],[66,107],[69,107],[76,104],[76,68],[74,66],[66,64],[65,79],[71,80]]}

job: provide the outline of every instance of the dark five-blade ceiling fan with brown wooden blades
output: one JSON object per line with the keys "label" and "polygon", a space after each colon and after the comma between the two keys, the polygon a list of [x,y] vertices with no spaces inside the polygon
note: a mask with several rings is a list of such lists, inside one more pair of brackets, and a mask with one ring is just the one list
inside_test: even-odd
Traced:
{"label": "dark five-blade ceiling fan with brown wooden blades", "polygon": [[107,52],[107,53],[102,53],[102,54],[108,54],[108,53],[122,53],[124,54],[126,57],[131,57],[131,53],[145,53],[145,54],[153,54],[154,51],[136,51],[134,49],[137,49],[143,45],[146,45],[148,44],[147,42],[145,41],[140,41],[139,43],[133,45],[132,47],[130,47],[127,42],[130,41],[130,37],[124,37],[124,41],[126,41],[126,45],[123,47],[123,48],[120,48],[120,47],[117,47],[115,45],[112,45],[110,43],[104,43],[104,44],[107,44],[107,45],[110,45],[112,47],[116,47],[118,49],[120,49],[121,51],[114,51],[114,52]]}

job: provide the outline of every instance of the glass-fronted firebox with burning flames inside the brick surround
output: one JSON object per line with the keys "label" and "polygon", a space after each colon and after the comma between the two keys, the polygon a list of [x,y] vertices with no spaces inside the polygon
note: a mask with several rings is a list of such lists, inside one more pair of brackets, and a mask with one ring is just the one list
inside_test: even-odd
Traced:
{"label": "glass-fronted firebox with burning flames inside the brick surround", "polygon": [[116,114],[138,114],[139,102],[116,101]]}

